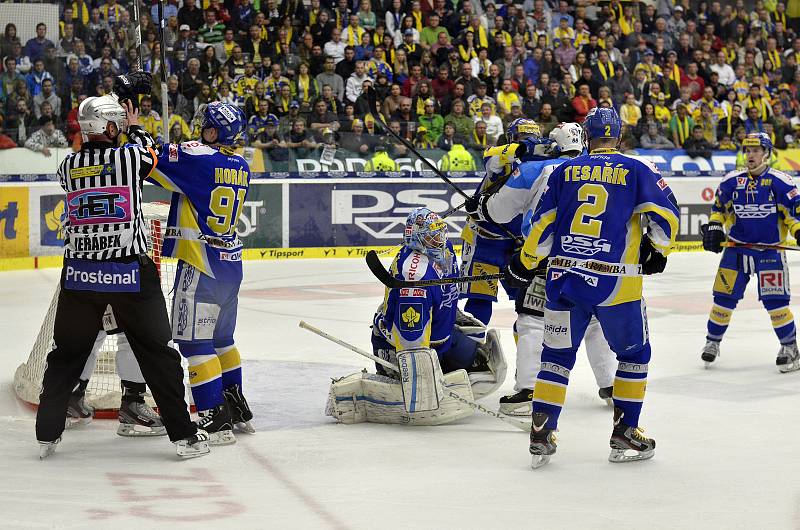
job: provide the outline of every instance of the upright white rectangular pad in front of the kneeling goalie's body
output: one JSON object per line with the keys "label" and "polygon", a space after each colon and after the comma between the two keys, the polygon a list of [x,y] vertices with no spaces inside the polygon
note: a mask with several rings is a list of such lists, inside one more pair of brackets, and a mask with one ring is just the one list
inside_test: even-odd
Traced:
{"label": "upright white rectangular pad in front of the kneeling goalie's body", "polygon": [[443,397],[442,369],[436,352],[417,348],[397,353],[406,412],[436,410]]}

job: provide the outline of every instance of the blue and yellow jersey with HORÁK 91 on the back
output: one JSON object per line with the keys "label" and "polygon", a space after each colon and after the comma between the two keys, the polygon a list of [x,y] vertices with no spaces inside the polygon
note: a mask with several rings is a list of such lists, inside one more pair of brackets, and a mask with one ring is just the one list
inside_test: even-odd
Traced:
{"label": "blue and yellow jersey with HOR\u00c1K 91 on the back", "polygon": [[148,178],[174,192],[163,254],[220,281],[241,282],[242,242],[236,225],[250,179],[245,159],[197,141],[168,144]]}

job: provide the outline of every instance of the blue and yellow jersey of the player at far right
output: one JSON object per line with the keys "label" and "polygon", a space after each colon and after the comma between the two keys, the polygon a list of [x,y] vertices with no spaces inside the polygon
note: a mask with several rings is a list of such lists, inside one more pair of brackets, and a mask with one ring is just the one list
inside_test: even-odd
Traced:
{"label": "blue and yellow jersey of the player at far right", "polygon": [[800,228],[798,205],[800,192],[786,173],[767,169],[754,177],[731,171],[717,188],[710,221],[728,225],[733,241],[776,245]]}

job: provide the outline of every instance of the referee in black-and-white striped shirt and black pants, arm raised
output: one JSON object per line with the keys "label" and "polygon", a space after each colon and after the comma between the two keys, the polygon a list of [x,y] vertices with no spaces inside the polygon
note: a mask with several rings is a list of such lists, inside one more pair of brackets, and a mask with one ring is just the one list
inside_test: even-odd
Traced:
{"label": "referee in black-and-white striped shirt and black pants, arm raised", "polygon": [[[109,305],[178,455],[209,452],[208,434],[189,417],[180,355],[168,346],[171,328],[161,282],[147,256],[142,186],[157,156],[153,138],[139,127],[138,109],[130,98],[149,93],[150,83],[149,74],[141,72],[118,76],[119,96],[82,102],[78,122],[84,143],[58,169],[66,192],[66,240],[55,349],[47,356],[36,415],[41,458],[52,454],[61,441],[69,396]],[[126,129],[136,144],[116,147]]]}

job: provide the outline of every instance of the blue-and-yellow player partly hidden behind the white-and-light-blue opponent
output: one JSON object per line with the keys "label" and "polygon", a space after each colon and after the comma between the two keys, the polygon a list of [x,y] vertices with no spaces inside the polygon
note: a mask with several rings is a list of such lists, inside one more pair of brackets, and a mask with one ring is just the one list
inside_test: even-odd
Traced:
{"label": "blue-and-yellow player partly hidden behind the white-and-light-blue opponent", "polygon": [[[519,167],[514,163],[518,153],[520,156],[523,153],[532,154],[537,146],[543,147],[551,143],[548,138],[541,137],[541,130],[536,122],[527,118],[518,118],[511,122],[506,131],[506,139],[509,144],[490,147],[484,152],[486,176],[475,195],[465,204],[464,209],[469,217],[461,237],[462,273],[466,276],[497,274],[520,246],[522,215],[515,214],[509,217],[505,211],[511,209],[504,206],[494,207],[493,211],[489,212],[488,203],[484,200],[502,189],[513,176],[518,175]],[[506,281],[500,283],[509,299],[513,300],[517,295],[516,288]],[[483,322],[484,326],[488,326],[492,317],[492,304],[497,302],[497,294],[497,280],[463,285],[461,298],[467,300],[464,311]]]}

